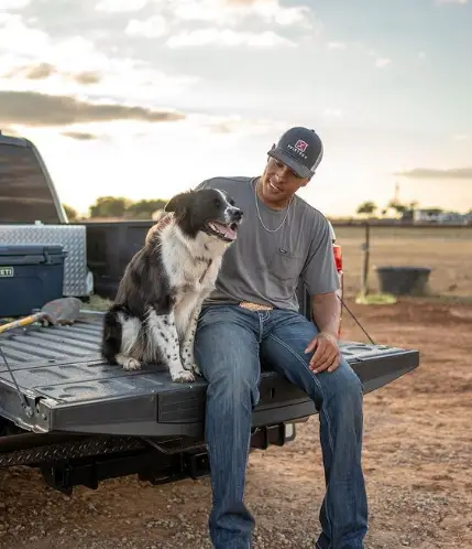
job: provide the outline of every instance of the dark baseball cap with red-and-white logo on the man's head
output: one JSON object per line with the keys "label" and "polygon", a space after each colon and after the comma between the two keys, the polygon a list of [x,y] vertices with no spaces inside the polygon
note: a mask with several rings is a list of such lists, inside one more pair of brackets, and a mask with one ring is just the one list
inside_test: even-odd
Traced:
{"label": "dark baseball cap with red-and-white logo on the man's head", "polygon": [[304,179],[315,174],[322,153],[322,142],[316,131],[299,126],[283,133],[278,143],[267,152]]}

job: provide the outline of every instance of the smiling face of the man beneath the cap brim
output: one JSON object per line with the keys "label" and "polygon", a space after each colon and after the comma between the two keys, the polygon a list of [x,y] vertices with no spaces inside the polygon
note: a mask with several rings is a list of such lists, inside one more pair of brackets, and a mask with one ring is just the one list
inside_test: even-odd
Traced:
{"label": "smiling face of the man beneath the cap brim", "polygon": [[281,161],[268,158],[261,177],[262,198],[274,207],[284,207],[290,197],[308,183]]}

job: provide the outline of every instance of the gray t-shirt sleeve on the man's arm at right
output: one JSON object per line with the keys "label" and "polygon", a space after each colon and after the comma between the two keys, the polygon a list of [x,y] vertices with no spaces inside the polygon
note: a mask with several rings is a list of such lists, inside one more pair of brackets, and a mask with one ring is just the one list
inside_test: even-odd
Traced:
{"label": "gray t-shirt sleeve on the man's arm at right", "polygon": [[323,217],[317,225],[301,271],[301,279],[310,295],[334,292],[340,288],[328,220]]}

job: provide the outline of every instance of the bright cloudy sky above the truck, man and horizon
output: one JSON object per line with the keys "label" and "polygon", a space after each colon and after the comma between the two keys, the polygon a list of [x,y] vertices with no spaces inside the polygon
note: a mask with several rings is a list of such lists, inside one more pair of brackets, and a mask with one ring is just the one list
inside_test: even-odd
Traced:
{"label": "bright cloudy sky above the truck, man and horizon", "polygon": [[292,126],[328,216],[472,208],[472,0],[0,0],[0,128],[61,200],[259,175]]}

